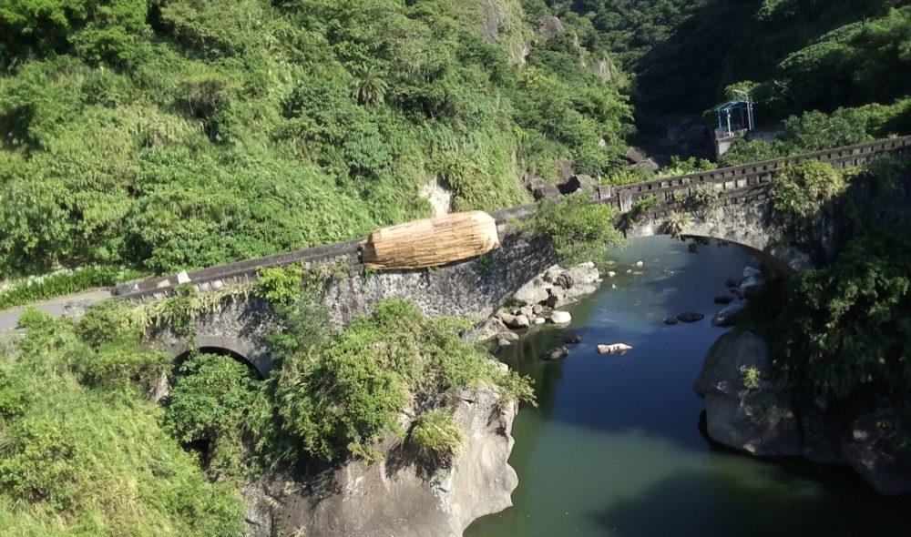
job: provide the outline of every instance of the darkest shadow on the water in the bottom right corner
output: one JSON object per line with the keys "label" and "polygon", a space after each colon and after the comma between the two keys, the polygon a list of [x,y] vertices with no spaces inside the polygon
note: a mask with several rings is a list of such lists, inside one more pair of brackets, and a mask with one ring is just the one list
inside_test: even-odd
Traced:
{"label": "darkest shadow on the water in the bottom right corner", "polygon": [[878,496],[841,472],[827,474],[824,491],[790,468],[768,474],[755,481],[732,471],[684,471],[591,516],[605,534],[624,537],[907,534],[909,495]]}

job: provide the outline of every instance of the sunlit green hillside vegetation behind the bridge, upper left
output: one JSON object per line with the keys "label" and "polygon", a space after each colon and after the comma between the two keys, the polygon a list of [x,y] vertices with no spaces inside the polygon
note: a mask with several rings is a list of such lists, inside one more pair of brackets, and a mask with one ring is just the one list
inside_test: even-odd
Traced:
{"label": "sunlit green hillside vegetation behind the bridge, upper left", "polygon": [[558,161],[619,166],[625,98],[536,25],[517,0],[6,2],[0,278],[210,266],[426,216],[435,177],[493,209]]}

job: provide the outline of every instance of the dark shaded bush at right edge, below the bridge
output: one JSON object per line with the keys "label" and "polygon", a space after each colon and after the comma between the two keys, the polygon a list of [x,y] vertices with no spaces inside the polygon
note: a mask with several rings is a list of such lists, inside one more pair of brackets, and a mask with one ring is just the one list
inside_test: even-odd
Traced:
{"label": "dark shaded bush at right edge, below the bridge", "polygon": [[906,397],[909,263],[911,239],[895,230],[856,238],[831,267],[790,279],[774,334],[775,365],[796,389]]}

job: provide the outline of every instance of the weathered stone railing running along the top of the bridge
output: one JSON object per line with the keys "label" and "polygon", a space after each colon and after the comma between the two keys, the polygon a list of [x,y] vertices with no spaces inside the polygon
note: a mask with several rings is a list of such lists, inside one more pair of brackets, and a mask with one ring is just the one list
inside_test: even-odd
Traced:
{"label": "weathered stone railing running along the top of the bridge", "polygon": [[[799,164],[807,160],[828,162],[834,167],[854,167],[865,164],[875,155],[882,153],[911,152],[911,136],[877,140],[850,147],[839,147],[829,151],[818,151],[799,157],[780,160],[769,160],[753,164],[724,167],[711,171],[699,172],[680,177],[666,177],[619,187],[599,187],[592,196],[595,203],[612,205],[620,212],[627,212],[632,204],[649,195],[658,196],[659,208],[651,212],[667,213],[678,205],[674,193],[700,185],[710,184],[722,187],[722,203],[742,203],[755,197],[763,197],[765,189],[772,183],[778,169],[787,164]],[[508,208],[493,214],[501,236],[506,231],[506,223],[512,218],[526,218],[534,210],[534,205]],[[659,215],[660,216],[660,215]],[[114,294],[123,299],[148,301],[162,299],[173,293],[180,284],[189,283],[200,291],[221,289],[236,283],[257,279],[259,270],[266,267],[302,263],[305,269],[317,269],[331,266],[333,274],[347,273],[349,276],[363,275],[360,242],[355,239],[347,242],[295,250],[264,258],[247,259],[209,269],[181,272],[162,278],[145,279],[118,285]]]}

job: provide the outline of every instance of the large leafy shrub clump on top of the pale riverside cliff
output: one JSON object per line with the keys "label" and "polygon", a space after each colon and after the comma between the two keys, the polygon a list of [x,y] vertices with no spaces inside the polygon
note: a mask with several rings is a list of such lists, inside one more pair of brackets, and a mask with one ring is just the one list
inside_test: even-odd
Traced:
{"label": "large leafy shrub clump on top of the pale riverside cliff", "polygon": [[[455,397],[482,385],[501,401],[532,400],[527,380],[500,370],[486,350],[467,344],[456,319],[427,319],[414,305],[387,299],[322,345],[309,333],[282,335],[281,370],[274,373],[278,414],[303,451],[335,460],[348,454],[373,461],[374,443],[404,435],[399,414],[410,400]],[[308,341],[295,347],[290,341]]]}

